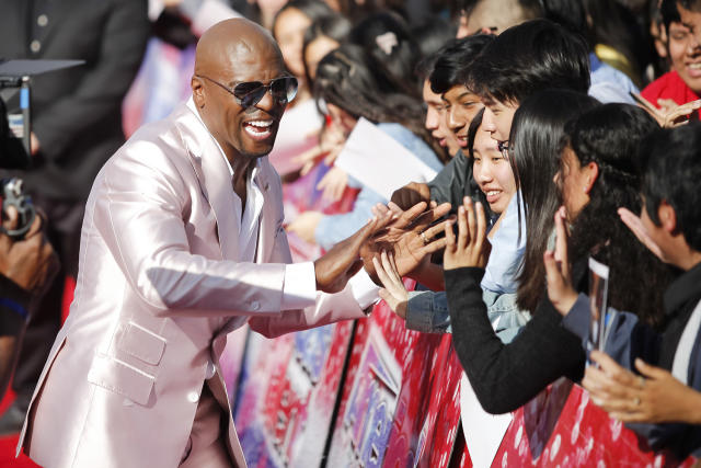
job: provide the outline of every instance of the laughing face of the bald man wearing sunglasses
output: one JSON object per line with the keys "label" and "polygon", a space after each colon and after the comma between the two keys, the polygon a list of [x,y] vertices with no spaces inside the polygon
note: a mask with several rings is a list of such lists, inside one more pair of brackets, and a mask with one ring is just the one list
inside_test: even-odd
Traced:
{"label": "laughing face of the bald man wearing sunglasses", "polygon": [[[228,59],[217,69],[207,71],[208,78],[229,89],[246,81],[267,84],[285,76],[289,73],[273,44],[232,47],[228,50]],[[274,100],[269,90],[249,109],[243,109],[237,98],[208,79],[193,78],[193,93],[203,121],[230,160],[237,155],[258,158],[271,152],[287,104]],[[199,105],[200,100],[204,106]]]}

